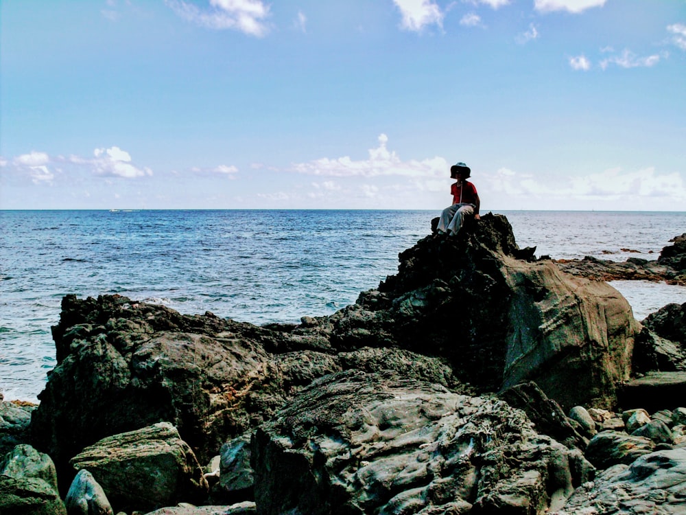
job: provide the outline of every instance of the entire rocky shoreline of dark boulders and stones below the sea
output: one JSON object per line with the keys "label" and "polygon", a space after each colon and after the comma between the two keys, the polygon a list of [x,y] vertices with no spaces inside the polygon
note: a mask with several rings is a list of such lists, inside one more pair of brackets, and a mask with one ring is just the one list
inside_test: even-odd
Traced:
{"label": "entire rocky shoreline of dark boulders and stones below the sea", "polygon": [[297,325],[68,295],[40,404],[0,402],[0,513],[684,511],[686,304],[604,280],[684,284],[685,247],[535,260],[487,214]]}

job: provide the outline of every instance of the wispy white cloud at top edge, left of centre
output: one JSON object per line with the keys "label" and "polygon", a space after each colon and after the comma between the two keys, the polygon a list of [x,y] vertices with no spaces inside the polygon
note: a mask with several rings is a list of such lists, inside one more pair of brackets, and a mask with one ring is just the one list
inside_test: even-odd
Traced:
{"label": "wispy white cloud at top edge, left of centre", "polygon": [[250,36],[267,34],[269,6],[261,0],[209,0],[209,8],[201,9],[184,0],[165,0],[178,16],[217,30],[239,30]]}

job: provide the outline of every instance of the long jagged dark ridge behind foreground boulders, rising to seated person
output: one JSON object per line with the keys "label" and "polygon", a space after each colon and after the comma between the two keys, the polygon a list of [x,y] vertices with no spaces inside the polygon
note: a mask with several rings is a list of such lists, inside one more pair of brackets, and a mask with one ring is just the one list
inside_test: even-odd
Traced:
{"label": "long jagged dark ridge behind foreground boulders, rising to seated person", "polygon": [[[68,295],[53,328],[58,365],[32,413],[32,442],[71,474],[67,484],[69,459],[84,446],[163,420],[206,462],[313,380],[345,371],[394,370],[471,396],[535,381],[558,407],[614,406],[640,329],[628,303],[607,284],[527,255],[507,219],[487,214],[456,238],[423,238],[379,288],[299,325],[257,327],[117,295]],[[582,448],[560,413],[576,439],[565,444]],[[518,480],[532,479],[525,490],[538,503],[549,492],[536,490],[530,475]],[[431,495],[451,487],[436,488]],[[519,495],[507,488],[498,495]],[[455,502],[462,510],[468,501]]]}

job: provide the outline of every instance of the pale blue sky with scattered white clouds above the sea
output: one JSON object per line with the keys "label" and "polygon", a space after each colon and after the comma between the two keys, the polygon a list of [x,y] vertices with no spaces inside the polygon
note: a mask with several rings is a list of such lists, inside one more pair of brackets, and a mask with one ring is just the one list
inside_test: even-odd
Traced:
{"label": "pale blue sky with scattered white clouds above the sea", "polygon": [[686,0],[0,0],[0,209],[686,211]]}

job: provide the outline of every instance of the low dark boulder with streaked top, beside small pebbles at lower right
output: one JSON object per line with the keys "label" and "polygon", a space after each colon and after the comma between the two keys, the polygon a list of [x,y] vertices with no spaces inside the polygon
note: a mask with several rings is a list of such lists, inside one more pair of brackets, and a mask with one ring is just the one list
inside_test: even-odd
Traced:
{"label": "low dark boulder with streaked top, beside small pebbles at lower right", "polygon": [[601,431],[589,442],[584,455],[595,468],[608,468],[617,464],[631,464],[655,448],[652,440],[631,436],[619,431]]}

